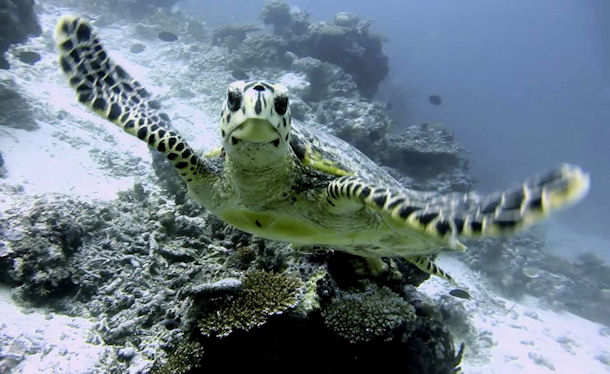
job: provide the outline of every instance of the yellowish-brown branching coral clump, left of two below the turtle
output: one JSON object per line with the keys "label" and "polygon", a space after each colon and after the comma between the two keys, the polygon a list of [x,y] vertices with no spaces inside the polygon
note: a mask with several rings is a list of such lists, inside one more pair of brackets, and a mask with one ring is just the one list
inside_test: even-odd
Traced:
{"label": "yellowish-brown branching coral clump, left of two below the turtle", "polygon": [[250,330],[297,305],[302,282],[286,274],[264,270],[246,273],[241,292],[232,301],[199,320],[204,335],[223,337],[235,329]]}

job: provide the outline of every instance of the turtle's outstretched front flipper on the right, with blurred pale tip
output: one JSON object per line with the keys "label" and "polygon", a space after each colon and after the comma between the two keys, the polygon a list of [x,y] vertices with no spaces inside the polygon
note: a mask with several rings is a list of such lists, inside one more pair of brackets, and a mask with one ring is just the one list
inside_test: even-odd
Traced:
{"label": "turtle's outstretched front flipper on the right, with blurred pale tip", "polygon": [[357,176],[341,177],[327,188],[331,203],[338,199],[360,201],[389,221],[464,248],[457,237],[497,235],[527,227],[582,198],[589,176],[580,168],[561,165],[528,179],[522,186],[479,197],[476,194],[434,196],[429,193],[376,188]]}

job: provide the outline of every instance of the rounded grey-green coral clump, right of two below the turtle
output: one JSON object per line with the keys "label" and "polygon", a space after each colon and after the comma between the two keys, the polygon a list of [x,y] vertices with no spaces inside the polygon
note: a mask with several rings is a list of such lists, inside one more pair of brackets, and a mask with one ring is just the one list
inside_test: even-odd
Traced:
{"label": "rounded grey-green coral clump, right of two below the turtle", "polygon": [[[387,287],[344,293],[323,310],[324,324],[351,343],[368,342],[415,320],[415,309]],[[408,331],[407,331],[408,333]]]}

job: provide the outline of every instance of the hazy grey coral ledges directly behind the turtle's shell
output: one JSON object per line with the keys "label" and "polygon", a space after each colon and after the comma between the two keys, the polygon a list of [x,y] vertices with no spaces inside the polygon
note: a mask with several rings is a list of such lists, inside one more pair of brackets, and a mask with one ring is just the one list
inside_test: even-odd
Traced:
{"label": "hazy grey coral ledges directly behind the turtle's shell", "polygon": [[437,123],[422,123],[396,129],[379,103],[334,97],[311,103],[315,117],[325,130],[356,146],[388,170],[405,187],[422,191],[468,191],[465,149],[453,133]]}

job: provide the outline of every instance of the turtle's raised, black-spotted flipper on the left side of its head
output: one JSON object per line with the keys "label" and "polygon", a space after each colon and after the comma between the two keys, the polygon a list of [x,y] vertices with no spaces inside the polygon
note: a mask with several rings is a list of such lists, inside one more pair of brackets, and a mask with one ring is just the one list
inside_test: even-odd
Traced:
{"label": "turtle's raised, black-spotted flipper on the left side of its head", "polygon": [[149,93],[108,57],[89,22],[63,16],[55,42],[59,63],[78,101],[163,153],[185,181],[209,174],[206,161],[172,129],[169,117],[158,110]]}

